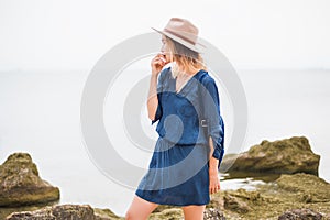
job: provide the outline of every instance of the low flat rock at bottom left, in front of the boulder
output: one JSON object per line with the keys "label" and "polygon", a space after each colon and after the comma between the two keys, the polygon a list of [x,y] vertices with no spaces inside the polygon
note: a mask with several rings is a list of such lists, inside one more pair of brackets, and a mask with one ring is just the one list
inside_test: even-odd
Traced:
{"label": "low flat rock at bottom left, in front of the boulder", "polygon": [[57,205],[45,207],[35,211],[13,212],[7,220],[116,220],[123,219],[113,215],[110,210],[95,212],[89,205]]}

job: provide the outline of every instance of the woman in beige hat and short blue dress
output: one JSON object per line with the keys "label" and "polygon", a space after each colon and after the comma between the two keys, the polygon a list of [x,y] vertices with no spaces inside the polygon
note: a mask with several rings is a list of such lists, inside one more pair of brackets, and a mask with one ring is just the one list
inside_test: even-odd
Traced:
{"label": "woman in beige hat and short blue dress", "polygon": [[152,124],[158,121],[160,138],[127,219],[147,219],[158,205],[180,206],[187,220],[204,219],[209,194],[220,190],[224,129],[218,88],[202,64],[194,24],[173,18],[157,32],[163,46],[151,62],[147,111]]}

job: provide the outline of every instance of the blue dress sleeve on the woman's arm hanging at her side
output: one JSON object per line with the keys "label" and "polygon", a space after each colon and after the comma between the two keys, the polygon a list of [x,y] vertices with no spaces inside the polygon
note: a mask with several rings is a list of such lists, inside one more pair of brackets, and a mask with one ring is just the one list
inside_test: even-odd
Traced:
{"label": "blue dress sleeve on the woman's arm hanging at her side", "polygon": [[211,77],[205,80],[205,89],[202,90],[204,99],[204,118],[208,123],[207,134],[212,138],[213,154],[212,156],[219,160],[219,166],[224,154],[224,124],[220,114],[220,98],[216,81]]}

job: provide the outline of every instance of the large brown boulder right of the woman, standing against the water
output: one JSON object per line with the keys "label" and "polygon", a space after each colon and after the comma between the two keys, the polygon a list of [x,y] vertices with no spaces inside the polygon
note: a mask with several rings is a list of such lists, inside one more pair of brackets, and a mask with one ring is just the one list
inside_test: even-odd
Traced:
{"label": "large brown boulder right of the woman, standing against the water", "polygon": [[315,154],[305,136],[280,141],[263,141],[240,155],[224,156],[221,172],[295,174],[318,176],[320,156]]}

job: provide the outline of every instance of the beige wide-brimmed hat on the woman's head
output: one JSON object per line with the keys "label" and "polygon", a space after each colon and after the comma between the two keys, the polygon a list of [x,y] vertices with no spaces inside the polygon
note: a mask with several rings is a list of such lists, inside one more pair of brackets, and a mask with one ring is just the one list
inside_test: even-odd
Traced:
{"label": "beige wide-brimmed hat on the woman's head", "polygon": [[183,44],[184,46],[200,53],[204,46],[198,43],[198,29],[188,20],[172,18],[163,31],[152,28],[156,32]]}

